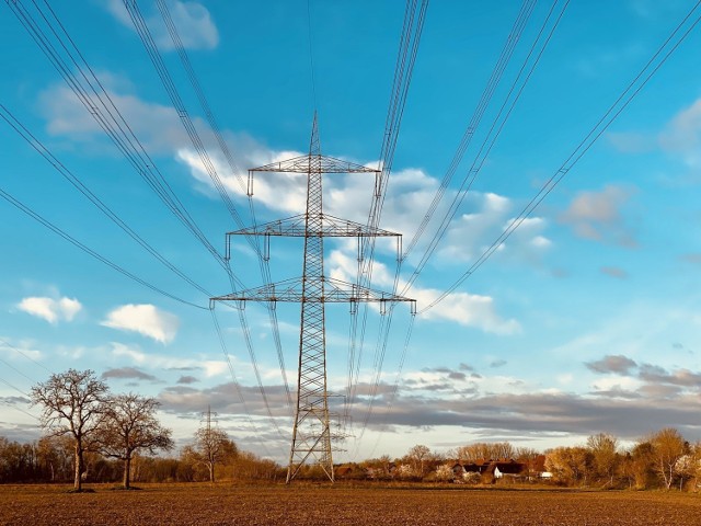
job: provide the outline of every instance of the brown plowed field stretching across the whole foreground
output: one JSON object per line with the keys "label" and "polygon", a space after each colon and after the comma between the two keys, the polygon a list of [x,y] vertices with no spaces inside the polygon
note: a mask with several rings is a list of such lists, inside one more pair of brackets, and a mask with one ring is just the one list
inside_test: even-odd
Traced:
{"label": "brown plowed field stretching across the whole foreground", "polygon": [[0,485],[2,525],[701,525],[701,495],[679,492],[143,485],[94,493]]}

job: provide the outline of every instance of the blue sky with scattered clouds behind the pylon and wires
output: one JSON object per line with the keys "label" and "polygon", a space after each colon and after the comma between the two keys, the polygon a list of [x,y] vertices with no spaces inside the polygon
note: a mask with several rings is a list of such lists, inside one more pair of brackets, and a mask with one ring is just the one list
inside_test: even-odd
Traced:
{"label": "blue sky with scattered clouds behind the pylon and wires", "polygon": [[[30,3],[31,2],[22,2]],[[180,96],[244,222],[248,202],[225,162],[156,5],[138,2]],[[377,165],[404,2],[181,2],[174,23],[235,163],[303,152],[314,110],[324,153]],[[43,3],[38,3],[44,5]],[[562,2],[556,10],[562,8]],[[412,238],[446,173],[520,3],[428,7],[381,227]],[[572,1],[434,256],[406,293],[420,311],[518,215],[633,80],[693,2]],[[551,8],[536,5],[444,202],[456,195]],[[37,11],[26,7],[37,20]],[[237,229],[188,140],[120,1],[54,7],[173,193],[223,252]],[[694,12],[693,16],[699,13]],[[311,21],[311,32],[309,30]],[[0,103],[164,259],[214,295],[228,277],[78,102],[8,5],[0,11]],[[635,441],[664,426],[701,439],[701,44],[694,28],[540,207],[453,294],[417,316],[398,307],[368,425],[379,315],[368,318],[350,436],[336,459],[444,451],[475,441],[545,448],[608,432]],[[314,75],[310,67],[310,36]],[[73,68],[73,72],[77,72]],[[199,307],[208,297],[129,239],[0,121],[0,188],[139,278]],[[266,179],[267,178],[267,179]],[[324,206],[363,222],[372,181],[329,175]],[[300,180],[256,179],[258,221],[302,211]],[[440,217],[439,207],[436,217]],[[49,371],[92,368],[115,391],[158,397],[187,441],[211,405],[242,447],[287,456],[284,397],[267,312],[246,308],[277,433],[260,396],[238,316],[217,308],[245,410],[208,310],[164,297],[76,249],[0,201],[0,434],[38,436],[30,387]],[[436,231],[403,265],[413,272]],[[301,273],[299,240],[274,240],[276,281]],[[232,268],[262,284],[235,240]],[[393,252],[378,244],[374,286]],[[326,267],[353,279],[355,248],[326,243]],[[287,377],[296,378],[297,306],[278,308]],[[347,381],[348,313],[329,308],[330,389]],[[398,382],[397,398],[389,393]]]}

